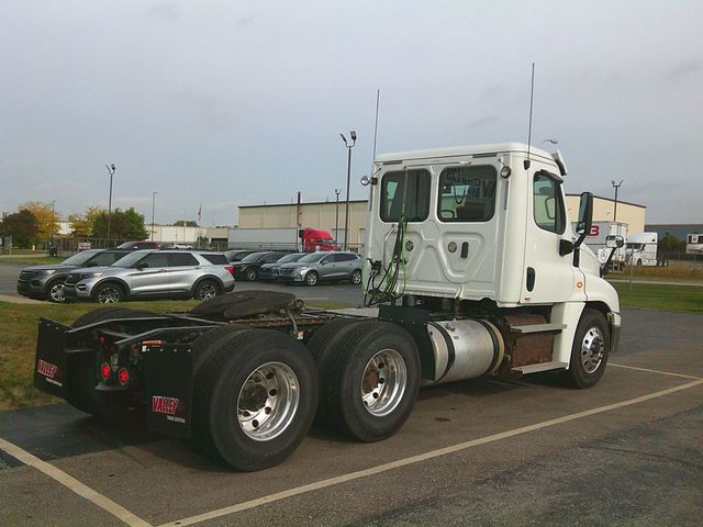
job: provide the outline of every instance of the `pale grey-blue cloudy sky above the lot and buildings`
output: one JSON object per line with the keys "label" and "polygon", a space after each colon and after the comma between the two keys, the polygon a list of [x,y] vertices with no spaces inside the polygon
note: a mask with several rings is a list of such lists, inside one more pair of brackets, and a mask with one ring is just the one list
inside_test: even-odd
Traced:
{"label": "pale grey-blue cloudy sky above the lot and buildings", "polygon": [[[234,225],[377,152],[558,141],[565,188],[703,223],[703,0],[0,0],[0,212]],[[548,148],[547,148],[548,147]],[[344,199],[344,191],[342,193]]]}

